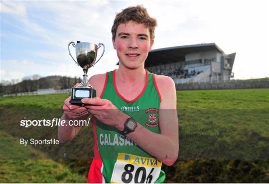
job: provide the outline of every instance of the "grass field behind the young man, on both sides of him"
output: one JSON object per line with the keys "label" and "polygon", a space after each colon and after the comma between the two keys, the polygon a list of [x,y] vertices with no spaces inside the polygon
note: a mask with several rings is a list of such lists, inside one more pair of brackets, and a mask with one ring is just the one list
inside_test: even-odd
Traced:
{"label": "grass field behind the young man, on both sides of him", "polygon": [[[22,179],[24,175],[29,176],[21,180],[25,183],[86,182],[91,163],[87,158],[93,156],[91,127],[83,127],[67,147],[36,147],[19,151],[21,146],[16,143],[20,137],[57,138],[56,127],[25,129],[19,127],[19,121],[24,117],[29,120],[60,118],[63,101],[68,96],[0,98],[1,159],[6,155],[51,159],[67,153],[67,150],[71,151],[68,152],[70,158],[82,152],[86,156],[81,156],[80,160],[0,160],[1,183],[16,183],[15,178]],[[177,91],[177,109],[179,160],[171,167],[163,167],[167,183],[269,181],[269,89]],[[26,173],[23,167],[27,162],[32,167]],[[62,168],[60,173],[48,172],[57,167]],[[36,171],[41,170],[46,171],[43,178],[36,176]],[[14,179],[11,177],[13,173],[16,173]],[[62,175],[68,177],[59,177]]]}

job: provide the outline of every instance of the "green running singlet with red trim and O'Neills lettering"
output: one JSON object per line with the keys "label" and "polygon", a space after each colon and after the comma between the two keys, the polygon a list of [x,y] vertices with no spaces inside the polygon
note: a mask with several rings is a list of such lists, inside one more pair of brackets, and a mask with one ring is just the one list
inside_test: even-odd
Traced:
{"label": "green running singlet with red trim and O'Neills lettering", "polygon": [[[102,99],[110,100],[119,110],[133,117],[148,130],[160,134],[158,110],[161,102],[155,77],[146,70],[142,92],[134,99],[125,99],[117,90],[115,70],[107,72]],[[161,162],[142,150],[129,137],[114,127],[92,118],[94,159],[89,183],[163,183]]]}

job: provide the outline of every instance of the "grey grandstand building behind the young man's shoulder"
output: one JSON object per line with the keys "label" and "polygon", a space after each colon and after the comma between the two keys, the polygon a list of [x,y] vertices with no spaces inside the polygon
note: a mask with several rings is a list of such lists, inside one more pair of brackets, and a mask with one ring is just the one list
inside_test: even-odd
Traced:
{"label": "grey grandstand building behind the young man's shoulder", "polygon": [[235,55],[225,54],[215,43],[160,48],[148,53],[145,68],[170,76],[176,84],[229,81]]}

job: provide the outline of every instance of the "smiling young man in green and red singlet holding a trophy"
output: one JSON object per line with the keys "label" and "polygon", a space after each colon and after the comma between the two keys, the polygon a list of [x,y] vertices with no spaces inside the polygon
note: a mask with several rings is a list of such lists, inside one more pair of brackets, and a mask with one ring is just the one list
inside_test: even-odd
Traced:
{"label": "smiling young man in green and red singlet holding a trophy", "polygon": [[[64,102],[62,119],[85,120],[93,115],[95,147],[89,183],[162,183],[161,164],[178,156],[176,91],[171,78],[144,69],[156,20],[142,6],[116,15],[113,46],[119,69],[92,76],[96,99],[84,106]],[[81,127],[58,129],[60,142],[74,138]]]}

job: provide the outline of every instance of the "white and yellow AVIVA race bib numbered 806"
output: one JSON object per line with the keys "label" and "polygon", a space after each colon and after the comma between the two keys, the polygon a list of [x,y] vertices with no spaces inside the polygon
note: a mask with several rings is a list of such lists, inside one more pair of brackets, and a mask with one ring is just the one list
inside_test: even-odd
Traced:
{"label": "white and yellow AVIVA race bib numbered 806", "polygon": [[159,175],[161,162],[153,158],[119,153],[110,183],[154,183]]}

